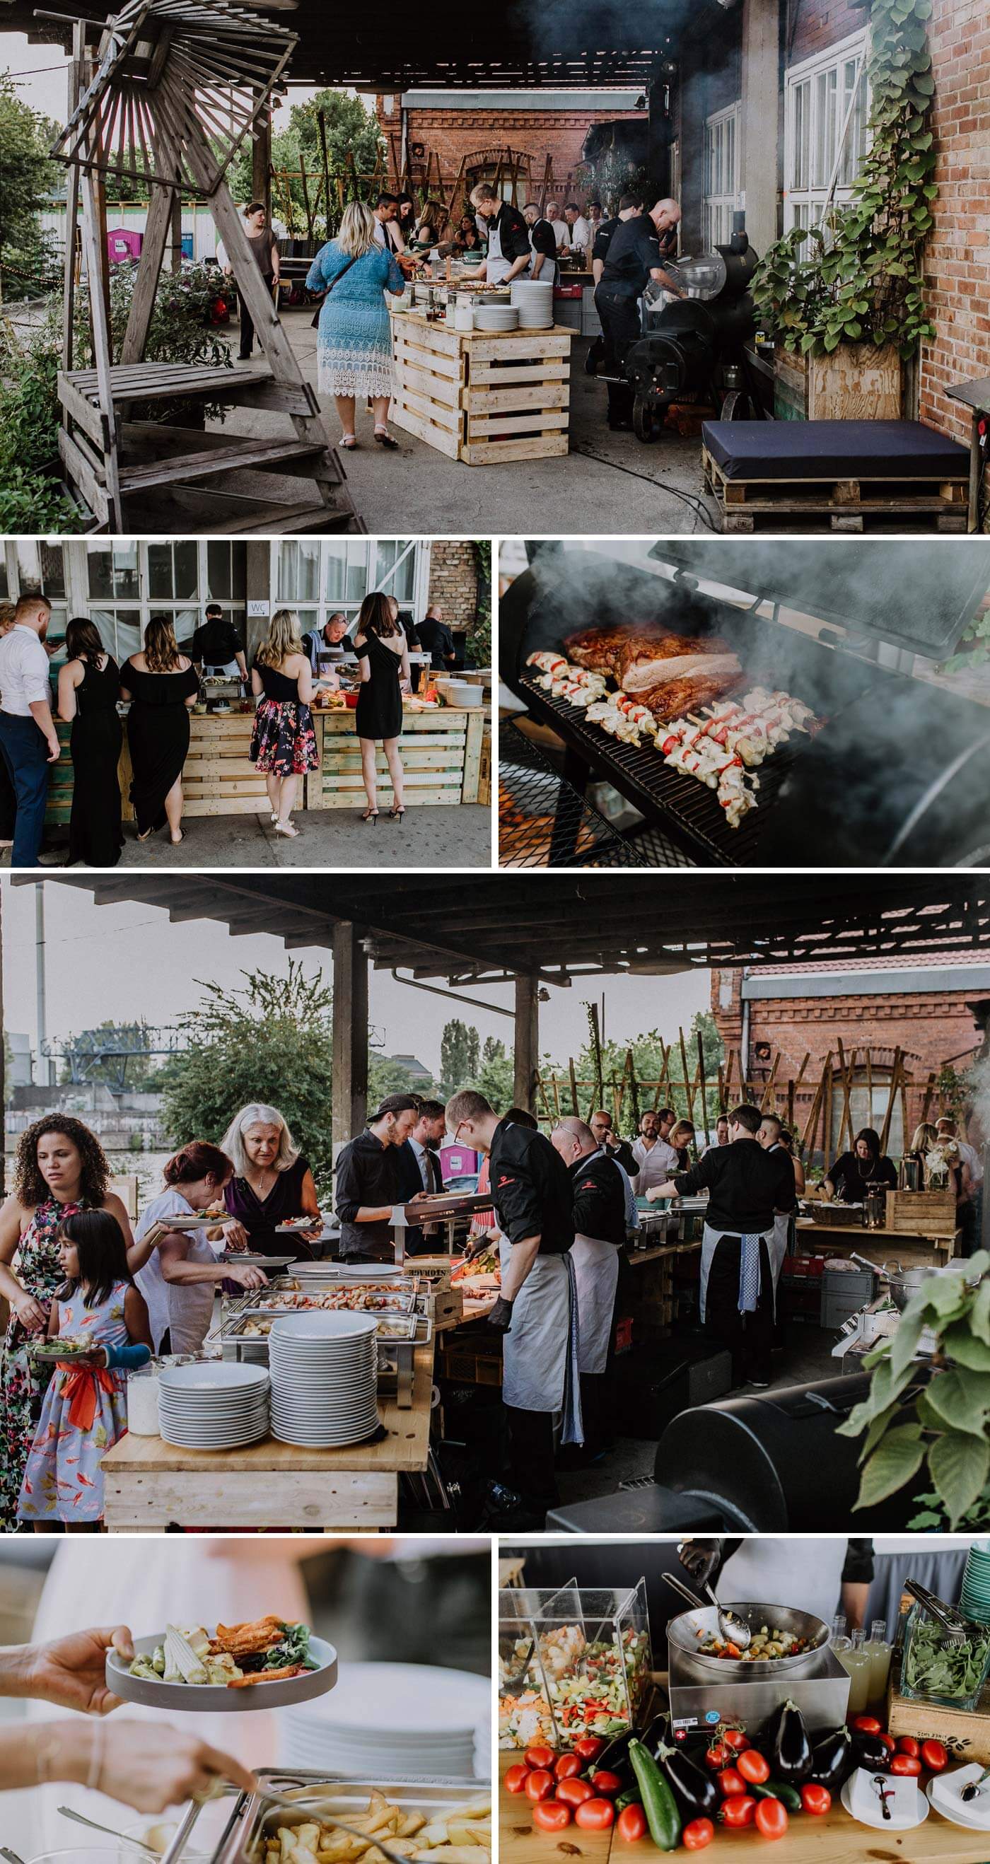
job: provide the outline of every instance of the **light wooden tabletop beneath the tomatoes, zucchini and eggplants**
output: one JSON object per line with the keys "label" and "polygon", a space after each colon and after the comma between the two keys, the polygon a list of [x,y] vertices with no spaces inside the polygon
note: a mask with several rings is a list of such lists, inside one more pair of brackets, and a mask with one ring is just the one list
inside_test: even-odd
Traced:
{"label": "light wooden tabletop beneath the tomatoes, zucchini and eggplants", "polygon": [[[500,1780],[516,1760],[520,1756],[515,1752],[500,1754]],[[500,1864],[561,1864],[561,1842],[567,1845],[565,1857],[576,1851],[585,1864],[608,1864],[612,1832],[582,1832],[574,1825],[563,1834],[537,1832],[531,1812],[526,1795],[507,1793],[500,1786]],[[671,1855],[684,1858],[688,1853],[679,1849]],[[632,1845],[615,1840],[615,1864],[664,1864],[664,1857],[666,1853],[658,1851],[651,1838],[639,1838]],[[787,1838],[777,1845],[753,1830],[731,1832],[720,1827],[707,1857],[712,1864],[720,1860],[759,1864],[777,1857],[779,1864],[986,1864],[990,1832],[966,1832],[932,1810],[923,1825],[915,1825],[910,1832],[891,1832],[887,1838],[869,1825],[858,1825],[843,1806],[833,1804],[824,1819],[796,1814]]]}

